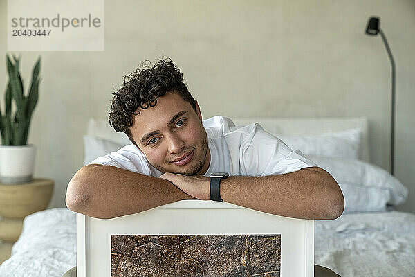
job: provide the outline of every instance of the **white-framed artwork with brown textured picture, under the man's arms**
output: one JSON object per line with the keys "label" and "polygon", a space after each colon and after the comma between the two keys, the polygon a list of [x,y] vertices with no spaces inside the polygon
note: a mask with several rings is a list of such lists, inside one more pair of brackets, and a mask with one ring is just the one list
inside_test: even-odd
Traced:
{"label": "white-framed artwork with brown textured picture, under the man's arms", "polygon": [[314,275],[314,220],[183,200],[100,220],[77,214],[77,276]]}

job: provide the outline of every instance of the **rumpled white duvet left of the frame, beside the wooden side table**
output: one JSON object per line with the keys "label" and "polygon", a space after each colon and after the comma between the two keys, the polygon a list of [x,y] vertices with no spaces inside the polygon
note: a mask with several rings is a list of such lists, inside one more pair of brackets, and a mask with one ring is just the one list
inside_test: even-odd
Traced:
{"label": "rumpled white duvet left of the frame, beside the wooden side table", "polygon": [[53,208],[24,219],[12,256],[0,265],[0,276],[61,277],[75,265],[75,213],[67,208]]}

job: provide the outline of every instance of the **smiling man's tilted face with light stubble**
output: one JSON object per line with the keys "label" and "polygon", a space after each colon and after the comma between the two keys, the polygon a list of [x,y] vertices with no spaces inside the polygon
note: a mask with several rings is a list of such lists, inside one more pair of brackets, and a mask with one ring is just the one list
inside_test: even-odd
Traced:
{"label": "smiling man's tilted face with light stubble", "polygon": [[131,134],[154,168],[183,175],[208,171],[208,136],[197,103],[196,109],[178,93],[167,93],[134,116]]}

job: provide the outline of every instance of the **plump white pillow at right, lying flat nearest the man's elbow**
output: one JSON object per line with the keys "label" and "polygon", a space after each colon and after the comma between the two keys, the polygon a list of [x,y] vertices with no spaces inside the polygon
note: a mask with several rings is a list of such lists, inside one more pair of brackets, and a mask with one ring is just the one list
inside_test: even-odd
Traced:
{"label": "plump white pillow at right, lying flat nearest the man's elbow", "polygon": [[308,156],[338,182],[344,195],[344,213],[387,211],[402,204],[408,190],[389,172],[365,161]]}

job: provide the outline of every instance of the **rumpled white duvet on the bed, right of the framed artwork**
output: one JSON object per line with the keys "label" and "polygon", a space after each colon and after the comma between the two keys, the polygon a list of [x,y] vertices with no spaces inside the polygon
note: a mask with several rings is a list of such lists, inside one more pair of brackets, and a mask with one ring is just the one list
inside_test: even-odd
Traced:
{"label": "rumpled white duvet on the bed, right of the framed artwork", "polygon": [[415,214],[355,213],[315,221],[315,264],[347,276],[415,276]]}

